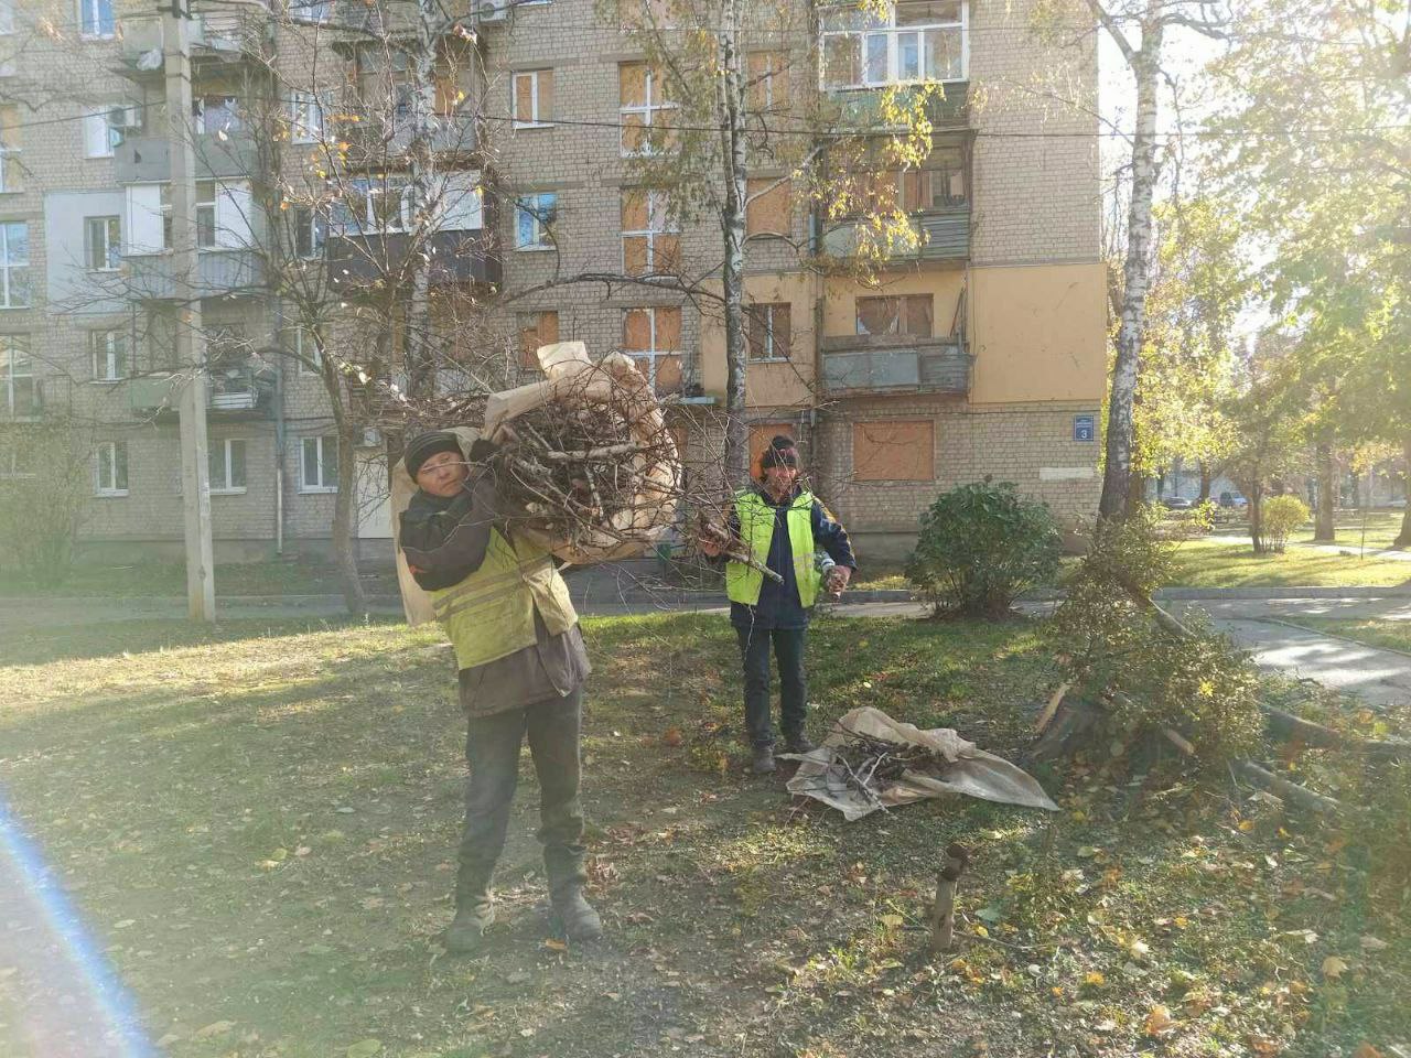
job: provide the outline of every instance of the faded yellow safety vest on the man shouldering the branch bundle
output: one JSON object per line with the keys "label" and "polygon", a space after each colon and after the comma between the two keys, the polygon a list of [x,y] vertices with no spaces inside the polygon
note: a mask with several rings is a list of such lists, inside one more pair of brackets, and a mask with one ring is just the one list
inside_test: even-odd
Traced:
{"label": "faded yellow safety vest on the man shouldering the branch bundle", "polygon": [[553,556],[526,540],[505,539],[494,528],[480,568],[430,597],[461,669],[533,646],[535,609],[550,635],[567,632],[579,621]]}

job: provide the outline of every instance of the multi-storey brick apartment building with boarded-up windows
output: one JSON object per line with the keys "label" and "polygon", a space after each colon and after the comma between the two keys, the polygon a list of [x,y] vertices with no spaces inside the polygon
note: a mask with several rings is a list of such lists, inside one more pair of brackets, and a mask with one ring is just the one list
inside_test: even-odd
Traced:
{"label": "multi-storey brick apartment building with boarded-up windows", "polygon": [[[418,155],[435,174],[426,234],[398,124],[412,80],[396,18],[409,6],[193,1],[217,557],[329,537],[340,442],[312,300],[320,341],[341,351],[380,336],[377,353],[350,358],[402,388],[409,333],[474,346],[485,364],[504,348],[507,370],[477,371],[481,382],[523,378],[553,340],[622,350],[673,398],[689,461],[718,458],[725,357],[710,299],[576,282],[689,272],[708,284],[718,267],[718,223],[683,220],[642,183],[649,130],[677,109],[667,79],[595,0],[461,6],[437,49],[433,142]],[[897,0],[882,21],[800,3],[797,31],[748,56],[752,106],[821,93],[858,134],[885,131],[889,85],[944,85],[931,155],[869,176],[924,238],[865,284],[837,267],[865,221],[828,219],[787,168],[751,168],[752,442],[796,436],[818,491],[873,553],[904,550],[940,491],[985,474],[1067,518],[1096,504],[1096,54],[1091,35],[1036,41],[1027,7]],[[11,425],[58,412],[90,423],[83,539],[99,552],[181,542],[161,51],[161,23],[135,0],[0,0],[0,412]],[[1055,71],[1075,106],[1034,90]],[[301,196],[315,185],[336,186]],[[430,262],[419,293],[405,285],[416,257]],[[310,275],[319,299],[301,286]],[[416,298],[430,320],[420,332]],[[377,552],[389,529],[382,439],[351,440],[358,536]]]}

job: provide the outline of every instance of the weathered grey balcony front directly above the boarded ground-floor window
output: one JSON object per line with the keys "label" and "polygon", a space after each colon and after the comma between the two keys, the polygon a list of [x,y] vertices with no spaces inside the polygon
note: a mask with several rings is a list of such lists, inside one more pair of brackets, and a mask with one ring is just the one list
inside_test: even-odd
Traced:
{"label": "weathered grey balcony front directly above the boarded ground-floor window", "polygon": [[965,343],[909,334],[823,340],[823,387],[834,396],[968,394],[974,357]]}

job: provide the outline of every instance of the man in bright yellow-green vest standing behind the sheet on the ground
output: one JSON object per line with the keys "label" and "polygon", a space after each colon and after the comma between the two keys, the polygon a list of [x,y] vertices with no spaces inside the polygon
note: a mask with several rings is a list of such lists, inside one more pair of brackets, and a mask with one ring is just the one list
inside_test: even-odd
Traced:
{"label": "man in bright yellow-green vest standing behind the sheet on the ground", "polygon": [[[790,753],[807,753],[809,687],[803,670],[809,616],[820,587],[841,592],[856,568],[848,533],[799,484],[799,451],[790,437],[775,437],[761,457],[761,481],[735,495],[729,537],[753,566],[725,563],[729,619],[739,638],[745,666],[745,728],[753,748],[755,774],[775,770],[775,728],[769,703],[769,650],[779,662],[779,726]],[[707,556],[721,545],[701,540]],[[821,584],[814,553],[823,550],[835,563],[830,583]],[[779,574],[766,578],[756,567]]]}

